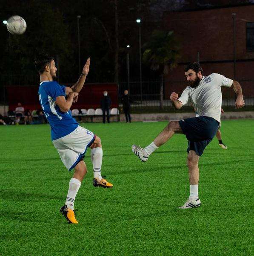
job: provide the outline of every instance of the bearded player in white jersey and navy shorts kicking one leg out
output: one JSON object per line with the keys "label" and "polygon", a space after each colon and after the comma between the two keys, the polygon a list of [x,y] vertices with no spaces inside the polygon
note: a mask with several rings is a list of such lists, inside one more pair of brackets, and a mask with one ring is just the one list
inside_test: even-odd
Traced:
{"label": "bearded player in white jersey and navy shorts kicking one leg out", "polygon": [[183,91],[180,98],[178,98],[177,93],[171,93],[172,105],[174,108],[180,109],[183,105],[191,102],[197,113],[199,113],[199,117],[169,122],[166,128],[146,148],[141,148],[137,145],[132,145],[131,147],[133,153],[141,161],[145,162],[152,152],[166,143],[175,133],[186,135],[188,140],[187,165],[190,196],[185,204],[179,207],[180,209],[196,208],[201,204],[198,197],[198,161],[205,147],[211,142],[218,127],[220,127],[221,86],[233,86],[234,91],[237,93],[235,108],[244,106],[242,88],[237,81],[215,73],[203,76],[203,69],[198,62],[192,62],[186,66],[185,76],[188,81],[188,87]]}

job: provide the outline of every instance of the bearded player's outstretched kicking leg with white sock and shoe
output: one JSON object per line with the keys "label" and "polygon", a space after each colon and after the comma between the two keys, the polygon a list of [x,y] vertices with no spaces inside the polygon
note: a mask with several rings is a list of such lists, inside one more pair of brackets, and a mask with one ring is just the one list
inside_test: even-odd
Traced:
{"label": "bearded player's outstretched kicking leg with white sock and shoe", "polygon": [[150,154],[152,154],[161,145],[166,143],[175,133],[182,134],[183,131],[178,121],[171,121],[146,148],[141,148],[138,145],[132,145],[131,150],[137,157],[140,158],[142,162],[146,162]]}

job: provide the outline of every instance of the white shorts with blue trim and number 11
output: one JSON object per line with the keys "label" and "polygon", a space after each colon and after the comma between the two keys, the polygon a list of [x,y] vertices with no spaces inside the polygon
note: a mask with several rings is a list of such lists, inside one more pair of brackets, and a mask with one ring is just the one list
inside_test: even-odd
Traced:
{"label": "white shorts with blue trim and number 11", "polygon": [[63,164],[66,168],[71,169],[79,162],[80,157],[86,154],[86,149],[94,142],[95,135],[86,128],[78,126],[70,134],[53,140]]}

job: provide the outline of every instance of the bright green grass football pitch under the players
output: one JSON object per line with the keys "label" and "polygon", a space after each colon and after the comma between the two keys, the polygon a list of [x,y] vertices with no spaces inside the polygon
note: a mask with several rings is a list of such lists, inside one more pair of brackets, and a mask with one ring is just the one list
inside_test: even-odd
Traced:
{"label": "bright green grass football pitch under the players", "polygon": [[59,209],[73,175],[50,139],[49,125],[0,126],[0,255],[254,255],[254,120],[222,122],[200,158],[201,207],[178,209],[189,195],[187,140],[174,135],[146,163],[131,152],[166,126],[83,124],[103,143],[112,189],[94,188],[88,173],[77,194],[79,224]]}

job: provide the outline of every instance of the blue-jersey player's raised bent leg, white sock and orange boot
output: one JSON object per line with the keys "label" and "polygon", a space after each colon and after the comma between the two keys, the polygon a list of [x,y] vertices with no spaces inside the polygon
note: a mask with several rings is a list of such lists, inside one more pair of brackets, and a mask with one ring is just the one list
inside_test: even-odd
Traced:
{"label": "blue-jersey player's raised bent leg, white sock and orange boot", "polygon": [[103,159],[103,150],[100,138],[95,137],[94,143],[91,148],[91,161],[93,163],[94,180],[93,185],[95,187],[111,188],[113,185],[105,180],[106,176],[101,176],[101,166]]}

